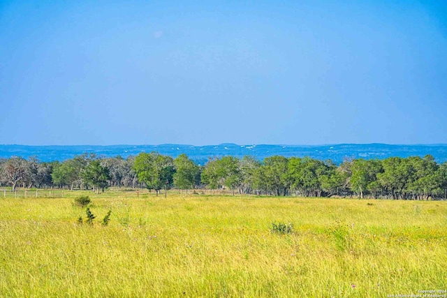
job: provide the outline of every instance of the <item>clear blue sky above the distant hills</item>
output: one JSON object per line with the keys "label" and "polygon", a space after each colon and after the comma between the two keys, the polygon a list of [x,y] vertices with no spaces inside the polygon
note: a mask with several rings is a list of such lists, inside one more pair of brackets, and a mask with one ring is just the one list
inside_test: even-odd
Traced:
{"label": "clear blue sky above the distant hills", "polygon": [[0,144],[447,143],[447,1],[1,1]]}

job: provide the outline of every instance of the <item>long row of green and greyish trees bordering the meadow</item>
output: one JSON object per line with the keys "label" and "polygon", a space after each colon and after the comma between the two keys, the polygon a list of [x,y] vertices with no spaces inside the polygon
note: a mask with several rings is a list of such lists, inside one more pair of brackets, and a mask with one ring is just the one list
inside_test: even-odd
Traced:
{"label": "long row of green and greyish trees bordering the meadow", "polygon": [[38,158],[0,159],[0,186],[24,188],[85,188],[109,186],[162,189],[226,190],[239,194],[305,197],[390,198],[429,200],[447,198],[447,163],[433,156],[390,157],[383,160],[346,159],[340,165],[313,158],[253,156],[209,158],[198,165],[186,154],[177,158],[158,152],[102,158],[82,154],[66,161]]}

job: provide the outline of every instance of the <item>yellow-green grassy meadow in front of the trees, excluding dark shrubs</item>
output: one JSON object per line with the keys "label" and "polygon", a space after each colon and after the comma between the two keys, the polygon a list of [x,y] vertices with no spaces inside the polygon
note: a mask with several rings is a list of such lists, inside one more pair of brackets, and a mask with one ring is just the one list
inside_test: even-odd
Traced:
{"label": "yellow-green grassy meadow in front of the trees, excluding dark shrubs", "polygon": [[[73,204],[81,194],[91,198],[93,225]],[[30,197],[0,197],[0,297],[390,297],[447,288],[445,201]],[[293,232],[272,232],[274,222]]]}

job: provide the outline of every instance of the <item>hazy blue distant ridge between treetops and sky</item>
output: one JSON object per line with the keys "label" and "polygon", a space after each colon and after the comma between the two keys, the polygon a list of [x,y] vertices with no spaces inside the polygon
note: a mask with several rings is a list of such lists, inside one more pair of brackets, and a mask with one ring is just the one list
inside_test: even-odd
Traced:
{"label": "hazy blue distant ridge between treetops and sky", "polygon": [[0,145],[0,158],[11,156],[37,156],[41,161],[64,161],[75,155],[94,153],[98,156],[124,158],[140,152],[158,151],[160,154],[176,157],[186,154],[197,163],[204,164],[209,157],[235,156],[241,158],[251,155],[259,160],[268,156],[281,155],[309,156],[320,160],[331,159],[342,163],[344,158],[388,158],[390,156],[425,156],[431,154],[438,163],[447,161],[447,144],[325,144],[325,145],[287,145],[287,144],[245,144],[223,143],[217,145],[193,146],[189,144],[159,145],[51,145],[29,146],[20,144]]}

